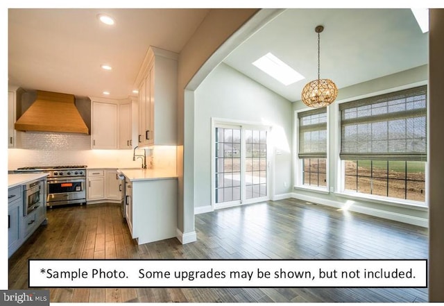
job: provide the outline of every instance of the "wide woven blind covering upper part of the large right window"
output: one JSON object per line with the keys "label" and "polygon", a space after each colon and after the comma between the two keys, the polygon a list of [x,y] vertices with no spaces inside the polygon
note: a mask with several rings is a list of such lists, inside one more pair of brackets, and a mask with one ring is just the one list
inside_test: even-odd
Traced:
{"label": "wide woven blind covering upper part of the large right window", "polygon": [[427,160],[427,86],[339,105],[343,160]]}

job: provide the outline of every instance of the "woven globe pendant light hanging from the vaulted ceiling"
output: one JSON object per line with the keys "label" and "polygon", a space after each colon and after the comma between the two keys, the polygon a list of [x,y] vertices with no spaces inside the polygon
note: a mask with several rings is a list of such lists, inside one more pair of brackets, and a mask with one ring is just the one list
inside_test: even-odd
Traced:
{"label": "woven globe pendant light hanging from the vaulted ceiling", "polygon": [[320,78],[320,35],[322,31],[324,31],[323,26],[316,26],[314,29],[316,33],[318,33],[318,79],[312,80],[310,83],[305,85],[302,90],[302,102],[309,106],[310,108],[323,108],[324,106],[330,105],[333,103],[334,99],[338,95],[338,87],[333,83],[332,80],[328,78]]}

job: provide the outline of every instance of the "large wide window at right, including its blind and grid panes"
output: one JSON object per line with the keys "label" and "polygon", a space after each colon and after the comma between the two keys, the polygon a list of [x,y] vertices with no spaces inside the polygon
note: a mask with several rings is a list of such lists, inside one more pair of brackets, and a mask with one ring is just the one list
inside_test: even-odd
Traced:
{"label": "large wide window at right, including its blind and grid panes", "polygon": [[344,189],[425,201],[427,87],[339,105]]}

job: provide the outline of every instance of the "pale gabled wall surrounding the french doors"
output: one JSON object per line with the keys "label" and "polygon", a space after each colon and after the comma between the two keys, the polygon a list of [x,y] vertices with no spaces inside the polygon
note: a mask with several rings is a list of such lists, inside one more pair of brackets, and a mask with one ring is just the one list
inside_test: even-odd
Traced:
{"label": "pale gabled wall surrounding the french doors", "polygon": [[282,154],[275,155],[271,196],[291,191],[291,110],[287,99],[223,63],[205,78],[194,96],[195,207],[211,205],[212,117],[272,126],[269,137]]}

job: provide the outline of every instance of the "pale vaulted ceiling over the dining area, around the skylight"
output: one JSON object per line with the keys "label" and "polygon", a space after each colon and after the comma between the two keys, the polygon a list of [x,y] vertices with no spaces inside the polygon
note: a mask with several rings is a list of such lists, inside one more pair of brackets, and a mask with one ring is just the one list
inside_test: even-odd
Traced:
{"label": "pale vaulted ceiling over the dining area, around the skylight", "polygon": [[[289,101],[300,100],[309,81],[321,78],[341,89],[428,63],[429,37],[410,9],[289,9],[241,44],[225,63]],[[251,63],[271,52],[304,80],[284,86]]]}

